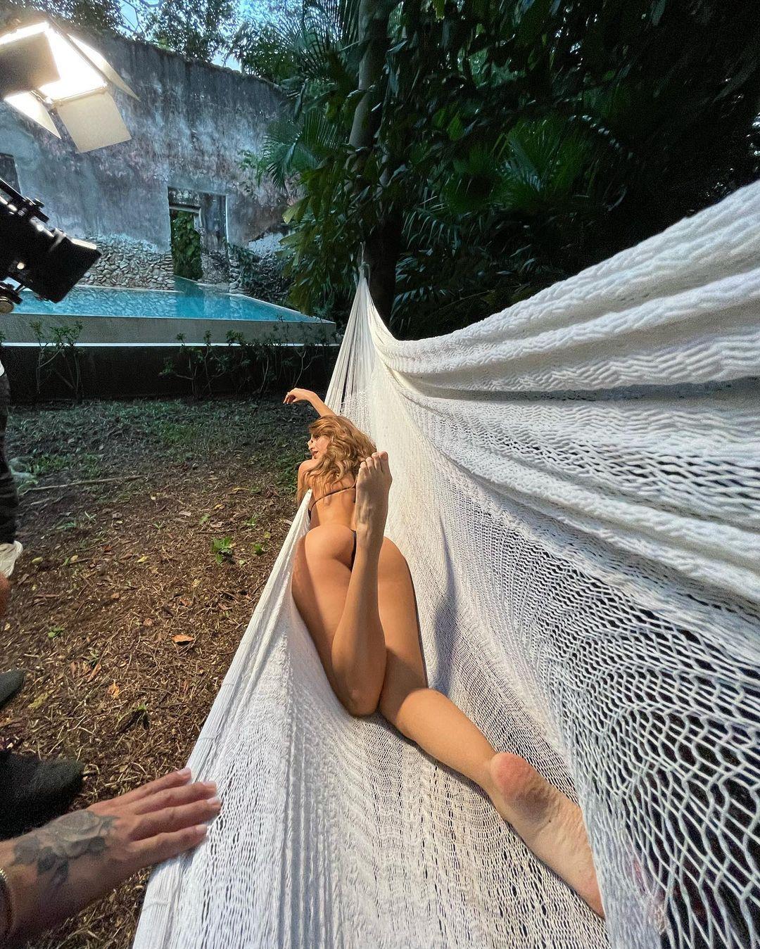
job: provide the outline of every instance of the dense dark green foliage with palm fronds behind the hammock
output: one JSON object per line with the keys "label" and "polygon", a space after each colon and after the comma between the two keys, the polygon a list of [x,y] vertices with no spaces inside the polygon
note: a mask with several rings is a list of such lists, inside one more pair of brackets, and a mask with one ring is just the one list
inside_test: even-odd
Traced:
{"label": "dense dark green foliage with palm fronds behind the hammock", "polygon": [[[295,28],[261,39],[293,117],[250,164],[294,195],[288,269],[306,311],[345,307],[366,242],[371,264],[393,257],[394,330],[444,332],[760,174],[753,2],[404,0],[386,17],[365,92],[355,4],[306,0]],[[372,142],[356,149],[365,95]]]}

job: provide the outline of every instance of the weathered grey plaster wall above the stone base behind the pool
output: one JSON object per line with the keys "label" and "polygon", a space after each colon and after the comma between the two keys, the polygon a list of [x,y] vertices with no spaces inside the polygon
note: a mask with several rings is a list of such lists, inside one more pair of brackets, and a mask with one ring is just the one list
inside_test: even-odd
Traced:
{"label": "weathered grey plaster wall above the stone base behind the pool", "polygon": [[281,196],[268,184],[245,194],[238,164],[285,107],[273,86],[144,43],[89,42],[139,95],[114,93],[132,140],[79,155],[65,132],[58,140],[0,102],[0,153],[13,156],[22,193],[40,198],[54,225],[73,236],[147,241],[165,253],[170,187],[226,195],[234,244],[282,220]]}

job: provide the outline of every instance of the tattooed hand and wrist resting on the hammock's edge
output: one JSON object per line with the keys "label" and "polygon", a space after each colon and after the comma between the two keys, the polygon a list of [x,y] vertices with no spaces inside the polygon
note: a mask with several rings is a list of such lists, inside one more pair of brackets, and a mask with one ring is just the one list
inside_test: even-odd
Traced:
{"label": "tattooed hand and wrist resting on the hammock's edge", "polygon": [[189,781],[189,769],[172,772],[0,843],[8,880],[7,892],[0,884],[0,944],[34,937],[143,867],[199,844],[220,804],[213,782]]}

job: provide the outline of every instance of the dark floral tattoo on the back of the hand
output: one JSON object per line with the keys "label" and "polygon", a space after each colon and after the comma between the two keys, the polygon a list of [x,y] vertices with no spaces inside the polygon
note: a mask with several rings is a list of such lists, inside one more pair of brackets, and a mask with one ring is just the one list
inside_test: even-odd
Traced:
{"label": "dark floral tattoo on the back of the hand", "polygon": [[100,856],[116,817],[101,817],[91,810],[75,810],[33,830],[13,843],[13,865],[37,865],[37,873],[52,871],[51,884],[68,879],[69,865],[84,854]]}

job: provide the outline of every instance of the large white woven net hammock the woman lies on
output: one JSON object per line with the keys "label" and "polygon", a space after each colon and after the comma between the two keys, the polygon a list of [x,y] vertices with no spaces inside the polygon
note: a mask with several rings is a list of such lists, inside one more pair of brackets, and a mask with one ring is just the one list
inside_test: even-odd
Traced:
{"label": "large white woven net hammock the woman lies on", "polygon": [[327,396],[388,449],[432,686],[577,792],[598,921],[469,782],[333,696],[302,506],[195,745],[221,816],[139,949],[760,944],[760,182],[448,336],[362,281]]}

